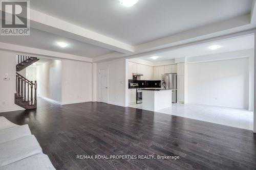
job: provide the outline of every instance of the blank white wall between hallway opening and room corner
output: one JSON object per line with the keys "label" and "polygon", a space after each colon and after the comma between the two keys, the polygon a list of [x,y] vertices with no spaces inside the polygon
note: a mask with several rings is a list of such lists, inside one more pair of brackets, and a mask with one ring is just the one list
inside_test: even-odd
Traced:
{"label": "blank white wall between hallway opening and room corner", "polygon": [[92,101],[92,63],[62,60],[62,104]]}

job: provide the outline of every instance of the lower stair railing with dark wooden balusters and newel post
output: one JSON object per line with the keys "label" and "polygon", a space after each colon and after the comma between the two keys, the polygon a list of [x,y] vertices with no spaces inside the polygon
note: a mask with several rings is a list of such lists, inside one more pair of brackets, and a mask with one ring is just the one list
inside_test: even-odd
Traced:
{"label": "lower stair railing with dark wooden balusters and newel post", "polygon": [[[37,82],[29,81],[22,75],[16,72],[16,97],[23,98],[24,102],[29,102],[30,105],[36,105],[36,89]],[[34,96],[34,98],[33,98]]]}

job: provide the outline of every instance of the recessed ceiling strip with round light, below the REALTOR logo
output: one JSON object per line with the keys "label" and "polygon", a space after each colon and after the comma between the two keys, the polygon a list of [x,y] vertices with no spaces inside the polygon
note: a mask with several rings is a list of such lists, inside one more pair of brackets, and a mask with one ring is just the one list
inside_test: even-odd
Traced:
{"label": "recessed ceiling strip with round light, below the REALTOR logo", "polygon": [[[61,48],[57,45],[57,41],[63,41],[69,45]],[[30,36],[1,36],[0,42],[11,43],[16,45],[29,46],[49,50],[59,53],[67,53],[82,57],[94,58],[113,51],[99,46],[91,45],[81,41],[61,37],[48,32],[32,29]]]}

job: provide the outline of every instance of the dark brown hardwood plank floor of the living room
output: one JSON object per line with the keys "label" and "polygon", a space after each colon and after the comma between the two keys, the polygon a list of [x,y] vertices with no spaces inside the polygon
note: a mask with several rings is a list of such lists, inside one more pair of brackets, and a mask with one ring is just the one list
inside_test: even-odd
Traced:
{"label": "dark brown hardwood plank floor of the living room", "polygon": [[[252,131],[88,102],[0,113],[29,124],[56,169],[256,169]],[[180,159],[76,159],[76,155],[174,155]]]}

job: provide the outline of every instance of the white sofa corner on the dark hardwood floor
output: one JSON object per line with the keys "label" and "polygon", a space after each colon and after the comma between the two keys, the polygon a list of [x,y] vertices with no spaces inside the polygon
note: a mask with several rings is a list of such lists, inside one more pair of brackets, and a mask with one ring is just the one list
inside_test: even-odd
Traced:
{"label": "white sofa corner on the dark hardwood floor", "polygon": [[3,116],[0,116],[0,153],[0,170],[55,169],[28,125],[13,124]]}

